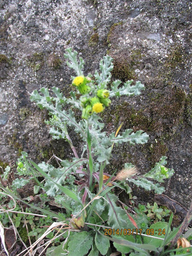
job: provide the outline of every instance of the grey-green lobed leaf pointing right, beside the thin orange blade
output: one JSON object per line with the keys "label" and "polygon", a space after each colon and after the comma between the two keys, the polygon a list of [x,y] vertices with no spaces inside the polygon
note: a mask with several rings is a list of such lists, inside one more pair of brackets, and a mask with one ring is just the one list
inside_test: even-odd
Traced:
{"label": "grey-green lobed leaf pointing right, beside the thin orange blade", "polygon": [[115,133],[111,133],[111,135],[109,136],[111,139],[111,142],[114,143],[122,143],[122,142],[128,142],[131,145],[135,145],[136,144],[144,144],[147,143],[148,139],[149,139],[149,135],[147,135],[147,133],[144,133],[144,131],[140,130],[140,131],[136,131],[136,133],[132,133],[132,129],[128,129],[125,130],[122,135],[118,135],[115,136]]}

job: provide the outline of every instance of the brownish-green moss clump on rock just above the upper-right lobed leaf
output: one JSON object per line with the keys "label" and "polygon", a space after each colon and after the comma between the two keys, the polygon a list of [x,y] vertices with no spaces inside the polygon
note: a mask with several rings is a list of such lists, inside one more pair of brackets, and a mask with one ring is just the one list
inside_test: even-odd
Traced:
{"label": "brownish-green moss clump on rock just above the upper-right lobed leaf", "polygon": [[111,75],[115,79],[119,79],[122,82],[135,78],[135,73],[133,68],[131,68],[129,62],[123,57],[114,58],[113,70],[111,72]]}

